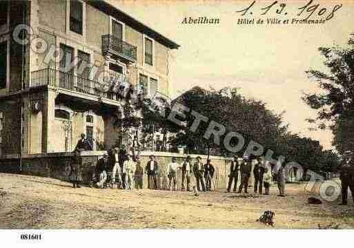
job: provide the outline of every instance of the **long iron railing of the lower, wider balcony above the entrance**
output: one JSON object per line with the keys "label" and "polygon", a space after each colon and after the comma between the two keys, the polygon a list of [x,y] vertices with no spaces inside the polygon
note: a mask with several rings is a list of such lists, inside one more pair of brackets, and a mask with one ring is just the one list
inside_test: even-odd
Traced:
{"label": "long iron railing of the lower, wider balcony above the entrance", "polygon": [[53,86],[56,88],[73,90],[79,93],[106,97],[108,99],[117,99],[117,96],[114,93],[105,92],[103,84],[99,82],[72,75],[70,73],[63,73],[62,71],[53,68],[36,70],[31,73],[31,82],[28,87],[39,88],[43,86]]}

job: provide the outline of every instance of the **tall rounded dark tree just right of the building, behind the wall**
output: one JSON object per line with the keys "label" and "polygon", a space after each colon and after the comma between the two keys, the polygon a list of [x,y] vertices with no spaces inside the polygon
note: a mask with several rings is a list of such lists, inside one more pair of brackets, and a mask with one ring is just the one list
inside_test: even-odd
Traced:
{"label": "tall rounded dark tree just right of the building, behind the wall", "polygon": [[[230,94],[225,95],[225,91]],[[246,144],[253,140],[267,149],[276,150],[277,143],[287,132],[287,126],[282,123],[282,115],[269,111],[266,104],[261,101],[242,97],[236,88],[217,91],[195,87],[182,95],[179,102],[208,117],[208,120],[223,124],[226,133],[228,131],[241,133]],[[194,120],[194,115],[187,115],[184,135],[179,135],[176,142],[186,144],[189,152],[209,153],[211,150],[214,155],[230,155],[226,147],[213,143],[213,136],[205,139],[204,134],[209,122],[201,122],[197,131],[191,132],[190,126]],[[221,140],[223,139],[224,136],[221,137]],[[242,154],[243,151],[239,153]]]}

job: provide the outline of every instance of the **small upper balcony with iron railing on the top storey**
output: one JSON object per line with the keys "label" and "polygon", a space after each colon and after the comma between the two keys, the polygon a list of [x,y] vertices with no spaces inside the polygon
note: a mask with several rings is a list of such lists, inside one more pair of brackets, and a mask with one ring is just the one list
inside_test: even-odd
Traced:
{"label": "small upper balcony with iron railing on the top storey", "polygon": [[102,35],[102,53],[116,55],[132,63],[137,61],[137,47],[112,35]]}

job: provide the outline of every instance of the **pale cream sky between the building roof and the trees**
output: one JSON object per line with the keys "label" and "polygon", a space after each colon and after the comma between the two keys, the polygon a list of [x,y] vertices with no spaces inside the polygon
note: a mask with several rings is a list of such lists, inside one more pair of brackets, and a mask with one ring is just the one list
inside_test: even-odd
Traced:
{"label": "pale cream sky between the building roof and the trees", "polygon": [[[244,97],[262,100],[275,113],[284,112],[284,122],[293,133],[319,140],[324,149],[333,148],[331,131],[308,130],[311,124],[306,118],[315,118],[316,111],[304,104],[301,97],[304,92],[320,92],[305,73],[311,68],[326,71],[318,48],[346,47],[354,33],[354,0],[313,1],[300,16],[299,8],[310,0],[279,1],[286,4],[284,10],[277,3],[266,15],[261,15],[265,11],[261,8],[274,1],[258,0],[244,17],[237,11],[250,6],[253,0],[108,1],[181,46],[171,54],[173,97],[193,86],[238,88]],[[322,24],[237,23],[239,18],[292,21],[304,19],[311,12],[309,19],[326,19],[339,4],[342,8]],[[275,9],[282,12],[276,14]],[[185,17],[219,18],[220,23],[186,24],[182,23]]]}

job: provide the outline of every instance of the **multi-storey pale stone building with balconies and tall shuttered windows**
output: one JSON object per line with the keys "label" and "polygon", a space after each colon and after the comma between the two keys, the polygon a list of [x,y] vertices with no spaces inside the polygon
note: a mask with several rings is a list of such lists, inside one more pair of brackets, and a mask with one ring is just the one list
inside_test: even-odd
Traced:
{"label": "multi-storey pale stone building with balconies and tall shuttered windows", "polygon": [[121,100],[105,89],[109,77],[170,95],[179,45],[110,3],[0,5],[0,156],[72,151],[81,133],[96,150],[116,144]]}

